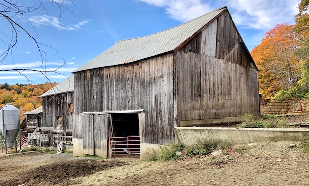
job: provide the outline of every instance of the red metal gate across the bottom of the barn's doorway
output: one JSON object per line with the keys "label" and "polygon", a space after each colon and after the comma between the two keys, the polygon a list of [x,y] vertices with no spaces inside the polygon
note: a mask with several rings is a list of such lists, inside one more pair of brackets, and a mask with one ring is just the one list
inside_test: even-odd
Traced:
{"label": "red metal gate across the bottom of the barn's doorway", "polygon": [[116,155],[136,155],[141,154],[140,137],[112,137],[110,138],[111,158]]}

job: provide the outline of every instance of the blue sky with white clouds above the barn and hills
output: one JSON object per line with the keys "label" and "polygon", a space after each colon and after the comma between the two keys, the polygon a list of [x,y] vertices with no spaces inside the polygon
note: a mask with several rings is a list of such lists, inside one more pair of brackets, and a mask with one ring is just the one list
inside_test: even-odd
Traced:
{"label": "blue sky with white clouds above the barn and hills", "polygon": [[[18,25],[17,43],[3,59],[12,26],[0,16],[0,84],[61,82],[119,40],[154,34],[227,6],[249,51],[276,24],[294,24],[300,0],[21,0],[41,6]],[[0,0],[1,3],[1,0]],[[27,4],[28,3],[28,4]],[[0,6],[0,11],[3,6]],[[14,34],[14,33],[13,33]],[[12,37],[13,36],[13,37]],[[39,43],[38,46],[33,39]],[[43,59],[42,59],[43,56]],[[2,60],[3,59],[3,60]],[[2,60],[2,61],[1,61]],[[35,71],[10,71],[32,69]],[[50,71],[44,74],[38,71]]]}

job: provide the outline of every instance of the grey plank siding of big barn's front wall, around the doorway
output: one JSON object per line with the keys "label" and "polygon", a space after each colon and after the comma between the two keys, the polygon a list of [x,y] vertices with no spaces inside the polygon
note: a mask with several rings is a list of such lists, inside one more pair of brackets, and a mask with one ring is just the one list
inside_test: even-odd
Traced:
{"label": "grey plank siding of big barn's front wall, around the doorway", "polygon": [[77,123],[73,137],[83,136],[82,117],[79,116],[83,112],[144,109],[144,122],[139,123],[141,142],[172,142],[173,59],[174,54],[169,53],[131,65],[75,73],[74,122]]}

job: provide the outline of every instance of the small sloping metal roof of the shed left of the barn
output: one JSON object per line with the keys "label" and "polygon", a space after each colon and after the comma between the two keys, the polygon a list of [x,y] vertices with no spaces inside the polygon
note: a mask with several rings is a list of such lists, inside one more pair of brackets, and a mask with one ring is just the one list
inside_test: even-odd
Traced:
{"label": "small sloping metal roof of the shed left of the barn", "polygon": [[73,89],[74,89],[74,75],[71,75],[70,77],[66,78],[64,81],[57,84],[56,86],[54,86],[44,94],[40,95],[39,97],[71,92],[73,91]]}

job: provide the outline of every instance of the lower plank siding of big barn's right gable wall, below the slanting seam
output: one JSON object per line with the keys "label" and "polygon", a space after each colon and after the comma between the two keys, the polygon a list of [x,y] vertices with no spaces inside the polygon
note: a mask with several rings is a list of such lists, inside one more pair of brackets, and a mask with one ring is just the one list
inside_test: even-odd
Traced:
{"label": "lower plank siding of big barn's right gable wall, below the slanting seam", "polygon": [[177,69],[181,121],[258,115],[256,70],[183,51],[177,53]]}

